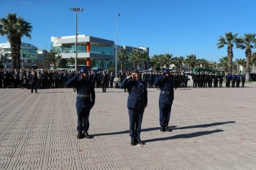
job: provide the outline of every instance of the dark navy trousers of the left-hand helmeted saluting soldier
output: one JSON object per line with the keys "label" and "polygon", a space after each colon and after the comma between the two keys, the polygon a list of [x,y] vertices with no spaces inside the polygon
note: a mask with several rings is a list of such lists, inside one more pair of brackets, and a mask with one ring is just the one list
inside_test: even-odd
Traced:
{"label": "dark navy trousers of the left-hand helmeted saluting soldier", "polygon": [[76,108],[78,115],[78,132],[88,131],[90,108]]}

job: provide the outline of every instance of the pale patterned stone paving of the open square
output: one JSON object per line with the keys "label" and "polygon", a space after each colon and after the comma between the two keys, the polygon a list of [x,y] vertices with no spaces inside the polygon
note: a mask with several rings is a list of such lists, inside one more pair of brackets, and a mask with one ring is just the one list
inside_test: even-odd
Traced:
{"label": "pale patterned stone paving of the open square", "polygon": [[160,132],[148,89],[145,146],[130,146],[127,93],[96,88],[91,139],[76,139],[73,89],[0,89],[0,169],[256,169],[256,84],[175,90],[173,132]]}

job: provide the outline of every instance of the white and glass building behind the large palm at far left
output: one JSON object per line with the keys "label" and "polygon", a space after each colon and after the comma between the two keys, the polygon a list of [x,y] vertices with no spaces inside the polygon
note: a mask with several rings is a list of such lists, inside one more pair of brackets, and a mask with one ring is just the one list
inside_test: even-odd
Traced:
{"label": "white and glass building behind the large palm at far left", "polygon": [[[12,68],[12,51],[9,42],[0,43],[0,54],[4,68]],[[23,68],[37,68],[37,47],[33,44],[22,42],[20,50],[20,65]]]}

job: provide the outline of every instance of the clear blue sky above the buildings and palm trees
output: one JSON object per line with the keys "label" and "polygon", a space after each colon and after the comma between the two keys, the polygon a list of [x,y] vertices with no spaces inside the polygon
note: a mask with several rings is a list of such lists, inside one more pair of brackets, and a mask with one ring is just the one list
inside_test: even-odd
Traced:
{"label": "clear blue sky above the buildings and palm trees", "polygon": [[[255,0],[9,0],[0,1],[0,17],[17,13],[32,24],[32,40],[39,49],[50,49],[50,37],[78,32],[115,41],[118,14],[118,44],[150,47],[150,57],[173,53],[173,57],[195,54],[218,61],[227,47],[216,48],[226,32],[256,33]],[[29,40],[22,37],[22,41]],[[7,42],[0,37],[0,42]],[[252,49],[252,51],[256,51]],[[234,59],[245,58],[234,48]]]}

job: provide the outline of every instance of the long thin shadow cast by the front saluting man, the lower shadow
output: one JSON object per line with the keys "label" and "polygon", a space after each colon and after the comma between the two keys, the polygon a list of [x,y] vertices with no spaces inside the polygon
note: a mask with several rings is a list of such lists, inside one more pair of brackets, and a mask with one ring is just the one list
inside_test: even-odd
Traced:
{"label": "long thin shadow cast by the front saluting man, the lower shadow", "polygon": [[143,142],[153,142],[153,141],[166,141],[166,140],[171,140],[175,138],[194,138],[197,136],[204,136],[204,135],[209,135],[211,133],[219,133],[222,132],[222,130],[214,130],[214,131],[201,131],[201,132],[195,132],[195,133],[187,133],[187,134],[180,134],[180,135],[175,135],[175,136],[170,136],[170,137],[165,137],[165,138],[152,138],[149,140],[145,140]]}

